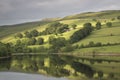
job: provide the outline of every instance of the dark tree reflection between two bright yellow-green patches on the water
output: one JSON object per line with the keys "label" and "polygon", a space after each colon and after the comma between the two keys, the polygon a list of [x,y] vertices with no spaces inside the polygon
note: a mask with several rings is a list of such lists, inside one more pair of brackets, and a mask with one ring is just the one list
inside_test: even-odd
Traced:
{"label": "dark tree reflection between two bright yellow-green patches on the water", "polygon": [[50,55],[49,59],[50,67],[44,68],[48,74],[56,77],[69,76],[69,71],[63,68],[66,62],[60,55]]}

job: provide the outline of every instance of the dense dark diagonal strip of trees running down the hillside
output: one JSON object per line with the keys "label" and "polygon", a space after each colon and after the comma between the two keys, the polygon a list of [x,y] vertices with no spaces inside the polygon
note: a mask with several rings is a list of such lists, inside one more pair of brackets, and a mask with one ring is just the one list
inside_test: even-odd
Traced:
{"label": "dense dark diagonal strip of trees running down the hillside", "polygon": [[80,41],[81,39],[88,36],[93,30],[93,27],[91,23],[85,23],[83,25],[83,28],[76,31],[71,37],[70,37],[70,43],[75,43]]}

